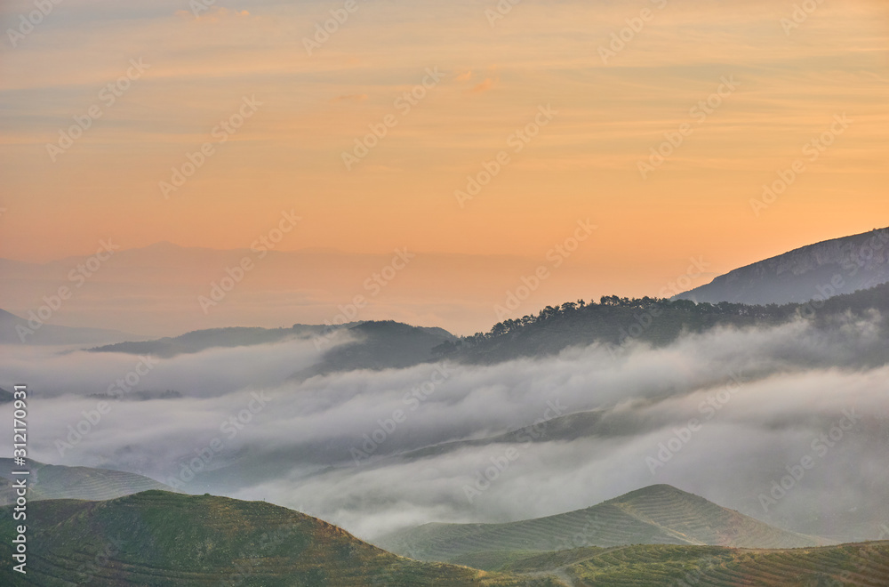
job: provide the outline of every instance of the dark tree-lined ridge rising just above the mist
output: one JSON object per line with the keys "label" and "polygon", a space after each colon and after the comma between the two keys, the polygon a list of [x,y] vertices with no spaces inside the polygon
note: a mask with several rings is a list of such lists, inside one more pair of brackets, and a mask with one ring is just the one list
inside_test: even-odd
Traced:
{"label": "dark tree-lined ridge rising just above the mist", "polygon": [[[572,346],[602,343],[620,350],[630,342],[662,346],[681,334],[702,333],[717,326],[777,326],[803,317],[816,324],[846,312],[863,316],[869,310],[889,312],[889,283],[837,292],[817,312],[811,305],[791,302],[781,306],[710,304],[677,299],[629,299],[605,296],[600,302],[568,302],[537,315],[509,319],[489,333],[458,338],[442,328],[409,326],[386,321],[341,326],[294,325],[292,328],[216,328],[153,341],[117,342],[90,350],[151,354],[170,358],[182,353],[221,347],[251,346],[287,339],[316,342],[323,357],[294,374],[300,380],[317,374],[355,369],[401,368],[442,358],[461,363],[493,364],[520,357],[553,355]],[[810,315],[811,313],[811,315]],[[867,360],[861,357],[861,360]]]}

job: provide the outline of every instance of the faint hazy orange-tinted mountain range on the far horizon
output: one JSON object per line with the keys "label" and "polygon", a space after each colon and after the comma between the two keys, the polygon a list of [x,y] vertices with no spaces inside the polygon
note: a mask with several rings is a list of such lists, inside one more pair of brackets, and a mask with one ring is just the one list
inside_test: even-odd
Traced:
{"label": "faint hazy orange-tinted mountain range on the far horizon", "polygon": [[[227,285],[227,270],[244,258],[254,261],[253,269],[236,285]],[[517,255],[405,249],[254,252],[156,243],[116,251],[91,277],[73,282],[71,271],[89,259],[36,263],[0,258],[0,307],[27,318],[45,303],[44,296],[68,286],[73,296],[53,314],[52,324],[113,328],[150,338],[225,326],[386,319],[467,331],[489,322],[495,316],[493,301],[541,262]],[[553,295],[569,294],[572,284],[587,276],[588,264],[565,263],[526,303],[539,305]],[[212,294],[214,284],[230,291],[218,305],[202,308],[199,297],[219,297],[218,290]],[[357,296],[364,299],[360,309],[353,304]],[[135,339],[92,344],[120,340]]]}

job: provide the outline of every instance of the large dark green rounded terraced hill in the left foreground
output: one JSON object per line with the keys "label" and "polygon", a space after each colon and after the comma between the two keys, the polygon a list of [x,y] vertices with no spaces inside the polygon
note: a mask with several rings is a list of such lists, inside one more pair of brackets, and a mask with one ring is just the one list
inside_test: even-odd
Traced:
{"label": "large dark green rounded terraced hill in the left foreground", "polygon": [[[12,536],[10,508],[0,535]],[[0,543],[11,560],[12,543]],[[469,585],[555,587],[555,579],[492,575],[420,563],[359,541],[339,527],[264,502],[147,491],[105,502],[28,506],[28,575],[0,566],[0,584]]]}

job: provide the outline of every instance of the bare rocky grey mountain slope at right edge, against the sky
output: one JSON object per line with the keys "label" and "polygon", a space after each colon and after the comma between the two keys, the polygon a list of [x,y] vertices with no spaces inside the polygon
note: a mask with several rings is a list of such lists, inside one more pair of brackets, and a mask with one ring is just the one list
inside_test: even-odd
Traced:
{"label": "bare rocky grey mountain slope at right edge, against the sky", "polygon": [[889,229],[803,246],[677,295],[694,302],[769,304],[851,294],[889,282]]}

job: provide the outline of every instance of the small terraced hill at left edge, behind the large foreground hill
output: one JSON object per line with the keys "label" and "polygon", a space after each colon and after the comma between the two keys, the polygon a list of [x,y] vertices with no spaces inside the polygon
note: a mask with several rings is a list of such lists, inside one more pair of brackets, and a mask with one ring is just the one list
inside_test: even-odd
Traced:
{"label": "small terraced hill at left edge, behind the large foreground hill", "polygon": [[[86,499],[105,500],[140,491],[159,489],[175,490],[152,478],[122,470],[92,469],[90,467],[66,467],[28,461],[28,483],[31,487],[28,499]],[[12,459],[0,459],[0,479],[10,480],[9,471],[19,469]],[[12,494],[0,495],[0,505],[11,503]]]}

